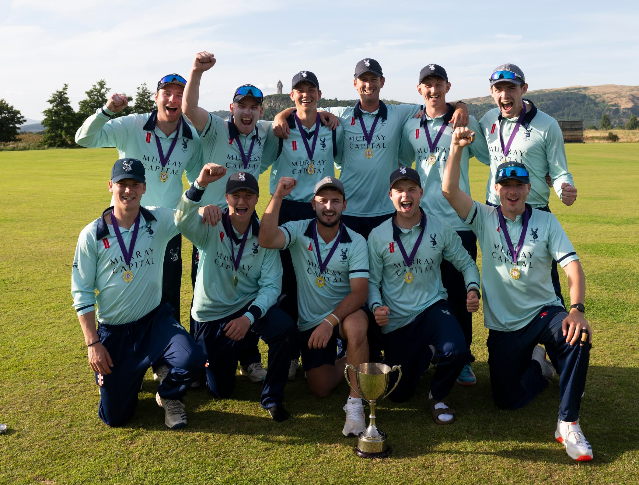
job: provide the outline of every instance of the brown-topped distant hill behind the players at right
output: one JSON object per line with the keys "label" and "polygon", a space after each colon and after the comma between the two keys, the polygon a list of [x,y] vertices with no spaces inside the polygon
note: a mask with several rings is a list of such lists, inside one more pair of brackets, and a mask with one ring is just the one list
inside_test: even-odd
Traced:
{"label": "brown-topped distant hill behind the players at right", "polygon": [[[532,100],[541,111],[555,119],[583,120],[583,127],[599,127],[601,115],[610,116],[613,126],[626,124],[631,114],[639,116],[639,86],[569,86],[568,88],[536,89],[524,96]],[[480,119],[495,107],[491,96],[470,98],[468,112]]]}

